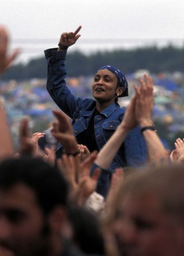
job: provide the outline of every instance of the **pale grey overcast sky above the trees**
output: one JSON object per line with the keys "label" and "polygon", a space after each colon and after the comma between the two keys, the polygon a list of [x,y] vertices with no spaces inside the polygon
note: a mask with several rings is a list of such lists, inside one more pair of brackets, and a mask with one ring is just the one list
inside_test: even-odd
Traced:
{"label": "pale grey overcast sky above the trees", "polygon": [[19,60],[43,56],[45,48],[56,47],[62,32],[78,25],[82,36],[73,50],[127,47],[138,45],[140,39],[181,43],[184,1],[0,0],[0,23],[10,31],[10,47],[22,47]]}

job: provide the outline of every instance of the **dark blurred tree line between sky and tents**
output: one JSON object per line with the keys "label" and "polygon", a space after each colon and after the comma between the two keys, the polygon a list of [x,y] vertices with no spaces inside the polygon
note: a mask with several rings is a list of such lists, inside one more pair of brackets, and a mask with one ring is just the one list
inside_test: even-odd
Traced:
{"label": "dark blurred tree line between sky and tents", "polygon": [[[81,51],[68,50],[66,66],[68,76],[90,76],[104,65],[114,65],[125,74],[137,69],[148,69],[152,73],[163,71],[184,70],[184,46],[177,48],[167,46],[158,48],[141,47],[131,50],[98,51],[89,55]],[[12,66],[3,75],[3,80],[25,80],[29,78],[47,77],[47,62],[45,58],[33,59],[28,64]]]}

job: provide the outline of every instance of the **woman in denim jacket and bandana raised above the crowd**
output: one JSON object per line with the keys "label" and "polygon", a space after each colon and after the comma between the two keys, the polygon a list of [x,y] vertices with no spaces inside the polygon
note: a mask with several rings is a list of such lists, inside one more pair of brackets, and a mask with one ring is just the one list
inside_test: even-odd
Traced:
{"label": "woman in denim jacket and bandana raised above the crowd", "polygon": [[[64,61],[67,48],[75,44],[81,36],[78,35],[80,29],[81,26],[74,33],[62,33],[59,48],[45,51],[48,62],[47,90],[57,106],[72,119],[78,143],[86,145],[91,152],[95,149],[101,150],[122,121],[125,108],[120,108],[117,98],[128,96],[128,83],[120,70],[106,65],[94,76],[92,92],[95,100],[72,95],[64,80],[67,75]],[[60,148],[56,154],[60,157],[61,153]],[[117,167],[137,167],[143,165],[146,160],[145,141],[140,128],[136,127],[129,132],[118,150],[110,166],[110,172]]]}

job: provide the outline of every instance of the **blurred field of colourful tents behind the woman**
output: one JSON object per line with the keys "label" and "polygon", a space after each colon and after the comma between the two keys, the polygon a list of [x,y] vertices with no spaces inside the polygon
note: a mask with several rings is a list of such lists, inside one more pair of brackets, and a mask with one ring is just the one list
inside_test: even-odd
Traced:
{"label": "blurred field of colourful tents behind the woman", "polygon": [[[155,104],[152,120],[164,146],[173,150],[178,137],[183,137],[184,129],[184,74],[181,71],[152,74],[149,70],[135,70],[127,74],[129,97],[120,99],[120,106],[128,106],[133,95],[133,83],[143,74],[151,74],[154,79]],[[93,76],[66,78],[68,88],[74,95],[82,98],[91,97]],[[57,108],[45,89],[45,78],[29,80],[0,80],[0,92],[6,101],[8,122],[11,126],[14,142],[18,142],[20,120],[29,116],[32,133],[48,129],[53,121],[52,109]]]}

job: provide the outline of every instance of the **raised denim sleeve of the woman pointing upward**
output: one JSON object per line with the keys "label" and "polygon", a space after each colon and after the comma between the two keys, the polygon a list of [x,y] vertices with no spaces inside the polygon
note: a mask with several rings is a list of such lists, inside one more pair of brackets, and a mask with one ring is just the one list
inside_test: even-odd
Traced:
{"label": "raised denim sleeve of the woman pointing upward", "polygon": [[57,51],[57,48],[51,48],[44,52],[48,62],[47,91],[57,106],[72,118],[79,101],[82,99],[72,95],[66,86],[67,73],[64,61],[67,51]]}

